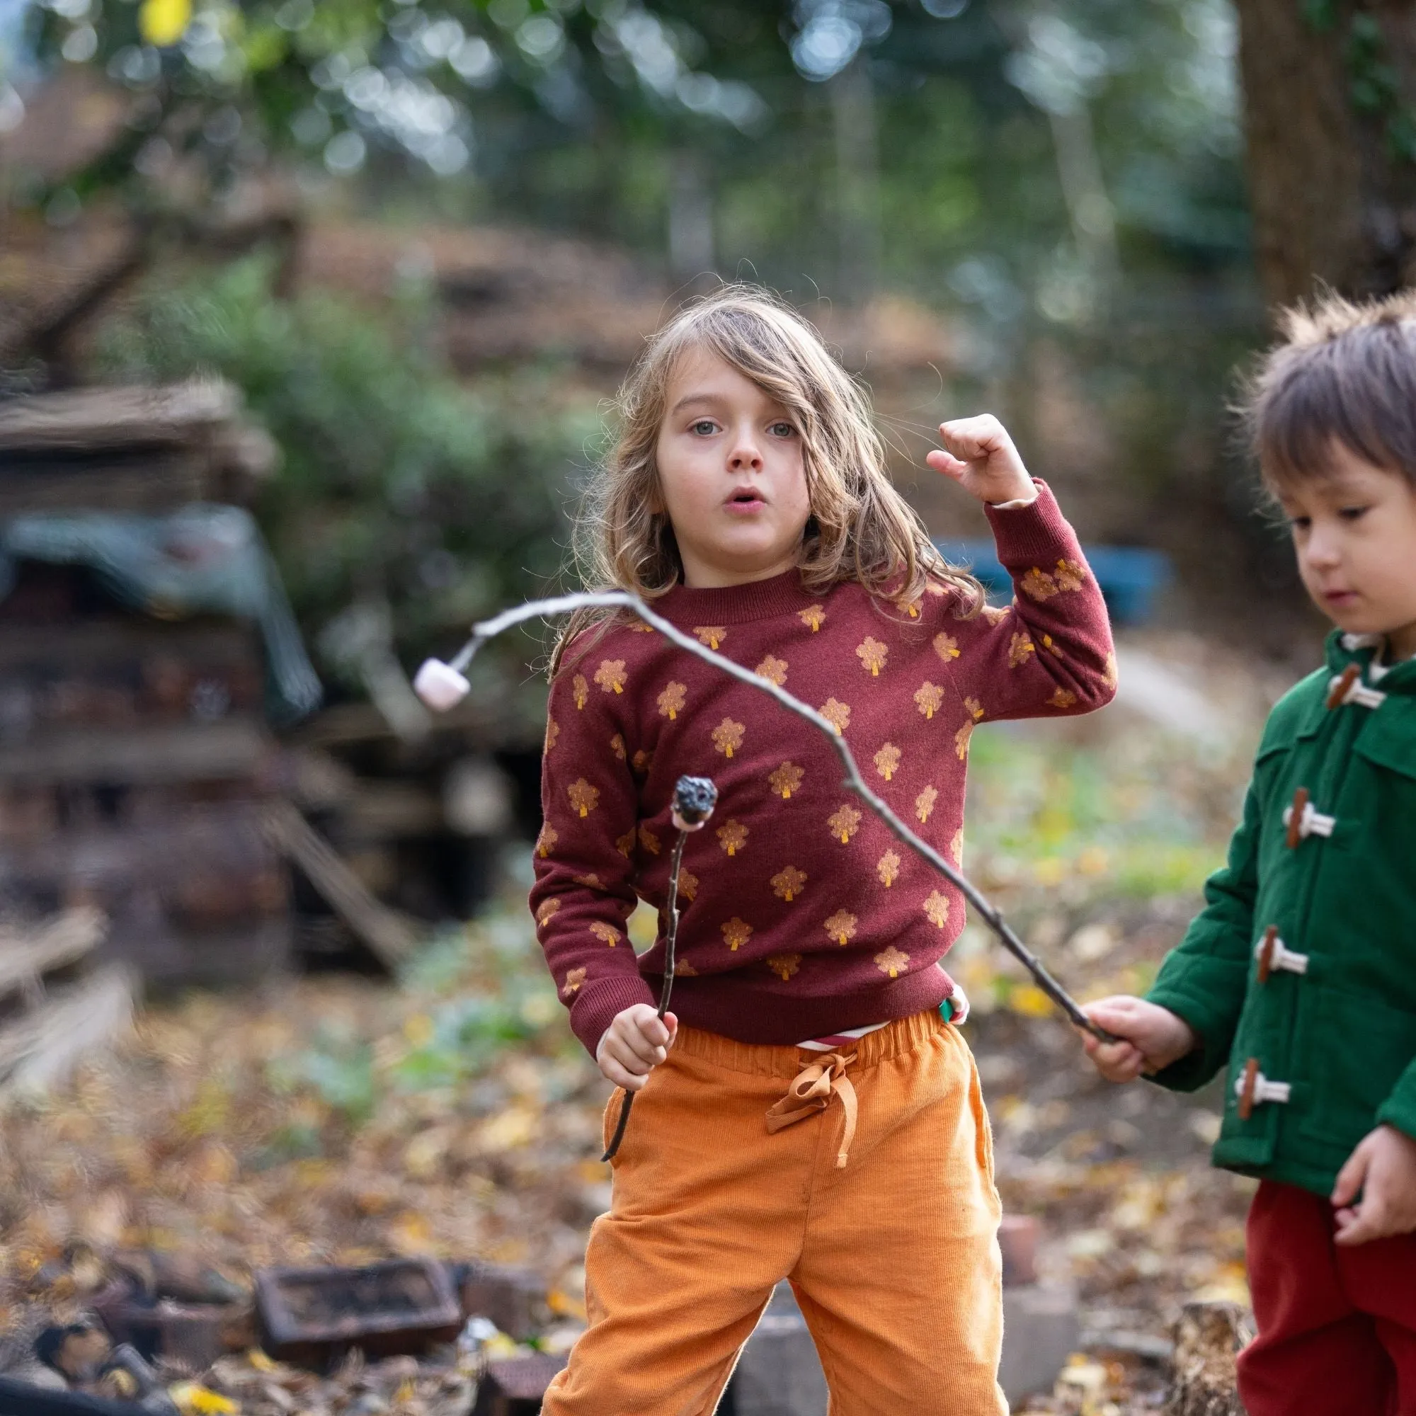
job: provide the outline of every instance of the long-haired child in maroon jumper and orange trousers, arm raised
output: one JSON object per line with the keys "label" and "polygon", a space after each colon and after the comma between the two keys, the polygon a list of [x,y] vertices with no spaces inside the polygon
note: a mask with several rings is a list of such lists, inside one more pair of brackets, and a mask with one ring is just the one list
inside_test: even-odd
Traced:
{"label": "long-haired child in maroon jumper and orange trousers, arm raised", "polygon": [[[987,506],[1007,610],[940,559],[860,388],[767,295],[681,312],[620,412],[592,579],[818,708],[954,861],[974,726],[1112,697],[1102,596],[995,419],[943,425],[927,460]],[[719,797],[684,851],[660,1022],[683,773]],[[542,807],[547,960],[576,1037],[639,1093],[586,1253],[590,1327],[544,1410],[711,1412],[787,1277],[833,1412],[1004,1412],[988,1121],[939,966],[957,892],[844,789],[820,733],[629,616],[558,647]],[[661,926],[641,959],[637,899]]]}

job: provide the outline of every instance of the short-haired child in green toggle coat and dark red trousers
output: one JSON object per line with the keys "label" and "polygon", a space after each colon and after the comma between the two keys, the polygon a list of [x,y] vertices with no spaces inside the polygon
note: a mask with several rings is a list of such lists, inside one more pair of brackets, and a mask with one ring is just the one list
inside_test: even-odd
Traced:
{"label": "short-haired child in green toggle coat and dark red trousers", "polygon": [[1416,1413],[1416,297],[1291,312],[1249,399],[1266,487],[1337,629],[1273,709],[1229,864],[1103,1076],[1194,1090],[1249,1212],[1250,1416]]}

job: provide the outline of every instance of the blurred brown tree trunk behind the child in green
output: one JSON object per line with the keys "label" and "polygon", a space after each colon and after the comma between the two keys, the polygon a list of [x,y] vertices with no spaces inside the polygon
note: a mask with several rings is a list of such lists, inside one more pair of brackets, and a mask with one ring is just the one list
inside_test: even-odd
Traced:
{"label": "blurred brown tree trunk behind the child in green", "polygon": [[1416,279],[1416,7],[1236,0],[1259,275],[1291,302],[1324,282]]}

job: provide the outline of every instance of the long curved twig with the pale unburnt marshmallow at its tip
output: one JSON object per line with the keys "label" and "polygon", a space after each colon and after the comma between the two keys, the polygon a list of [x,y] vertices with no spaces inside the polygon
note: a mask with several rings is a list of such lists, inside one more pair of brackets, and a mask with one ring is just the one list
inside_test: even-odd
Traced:
{"label": "long curved twig with the pale unburnt marshmallow at its tip", "polygon": [[661,615],[656,615],[639,596],[630,595],[627,590],[595,590],[595,592],[581,592],[575,595],[558,595],[554,599],[547,600],[527,600],[525,605],[517,605],[513,609],[503,610],[500,615],[490,620],[484,620],[481,624],[474,624],[472,627],[472,639],[463,646],[462,653],[452,661],[452,667],[462,673],[467,664],[472,663],[473,656],[477,650],[489,640],[494,639],[503,630],[511,629],[513,624],[521,624],[528,619],[539,619],[554,615],[565,615],[571,610],[578,610],[582,607],[620,607],[632,610],[646,624],[651,624],[660,632],[667,640],[677,644],[680,649],[687,650],[690,654],[697,656],[704,660],[704,663],[715,664],[725,674],[732,675],[743,684],[756,688],[759,692],[769,694],[776,698],[783,708],[794,712],[799,718],[804,718],[813,726],[826,733],[831,746],[835,748],[837,756],[841,759],[845,767],[845,786],[850,787],[893,833],[898,835],[912,851],[922,855],[930,865],[939,871],[952,885],[954,885],[964,899],[977,910],[983,922],[998,936],[1004,949],[1008,950],[1017,959],[1024,969],[1032,974],[1037,986],[1066,1014],[1068,1020],[1085,1032],[1090,1032],[1092,1037],[1102,1042],[1119,1042],[1120,1038],[1113,1032],[1107,1032],[1106,1028],[1093,1022],[1076,1003],[1076,1000],[1066,991],[1052,977],[1048,971],[1046,964],[1032,953],[1031,949],[1012,932],[1012,927],[1003,918],[1003,915],[994,908],[988,898],[959,869],[946,861],[939,851],[936,851],[927,841],[920,840],[891,809],[881,800],[867,784],[865,779],[861,776],[861,769],[855,765],[855,758],[851,755],[851,749],[845,745],[845,738],[837,731],[833,722],[823,718],[814,708],[809,708],[800,698],[793,698],[784,688],[777,687],[770,678],[762,678],[741,664],[735,664],[731,658],[715,653],[705,644],[700,644],[697,639],[685,634],[681,629],[670,624]]}

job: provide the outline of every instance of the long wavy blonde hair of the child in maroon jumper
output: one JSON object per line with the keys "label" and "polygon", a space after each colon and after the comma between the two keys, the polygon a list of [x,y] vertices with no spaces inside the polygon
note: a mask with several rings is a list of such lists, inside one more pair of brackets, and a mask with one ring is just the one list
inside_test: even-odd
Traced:
{"label": "long wavy blonde hair of the child in maroon jumper", "polygon": [[[919,514],[891,484],[865,391],[809,320],[752,285],[725,285],[684,306],[651,336],[620,387],[619,433],[575,525],[572,554],[582,583],[653,602],[683,578],[654,450],[674,371],[692,348],[716,354],[797,425],[811,508],[797,566],[811,595],[858,581],[882,600],[905,605],[935,579],[960,598],[961,617],[980,610],[980,583],[939,554]],[[617,617],[613,610],[576,612],[556,643],[552,677],[578,634]]]}

